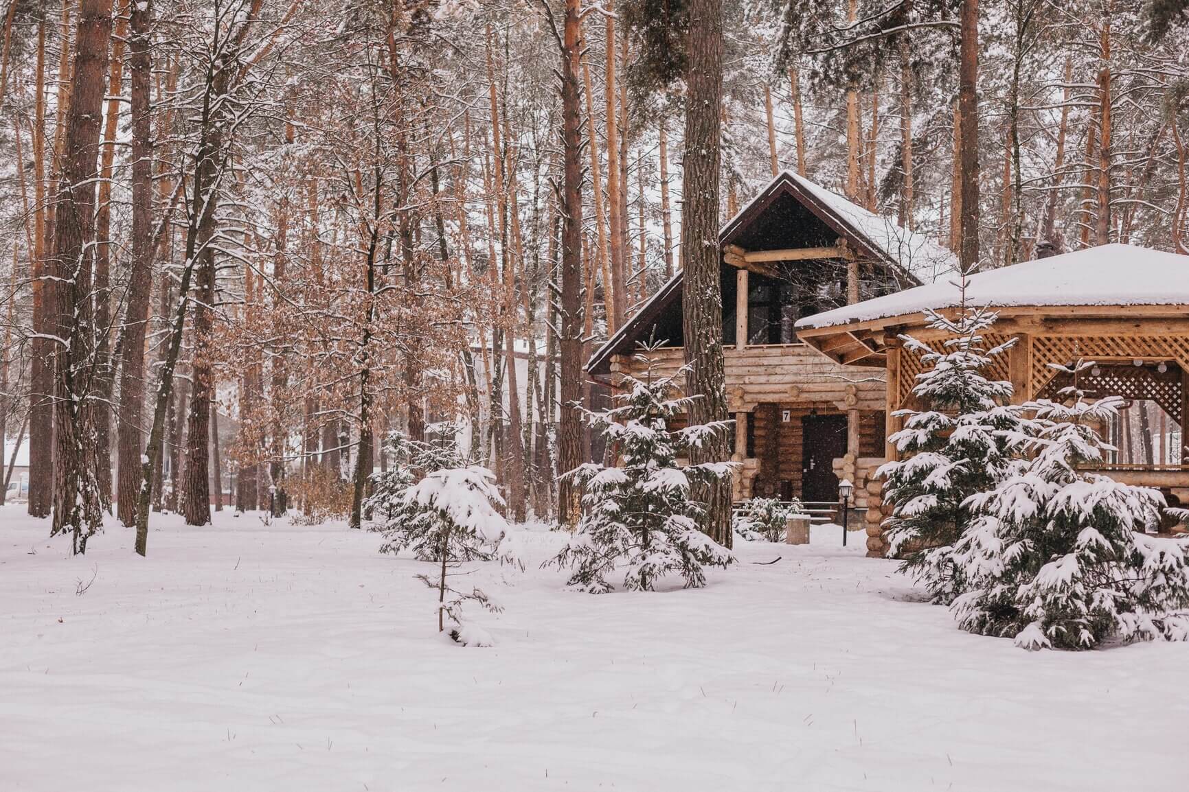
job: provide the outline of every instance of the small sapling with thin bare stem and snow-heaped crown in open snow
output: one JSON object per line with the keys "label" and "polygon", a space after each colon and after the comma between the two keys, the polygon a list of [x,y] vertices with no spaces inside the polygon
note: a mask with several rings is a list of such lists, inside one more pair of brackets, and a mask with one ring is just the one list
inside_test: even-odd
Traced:
{"label": "small sapling with thin bare stem and snow-heaped crown in open snow", "polygon": [[449,578],[463,562],[509,559],[499,553],[508,522],[497,509],[503,498],[495,474],[465,464],[452,439],[420,443],[396,435],[389,448],[396,464],[373,477],[376,492],[369,499],[378,520],[376,530],[385,538],[379,551],[409,549],[416,558],[435,562],[438,571],[417,575],[417,579],[438,591],[438,631],[445,632],[448,622],[455,641],[490,645],[482,628],[464,623],[463,606],[476,602],[492,613],[502,608],[483,589],[455,588]]}

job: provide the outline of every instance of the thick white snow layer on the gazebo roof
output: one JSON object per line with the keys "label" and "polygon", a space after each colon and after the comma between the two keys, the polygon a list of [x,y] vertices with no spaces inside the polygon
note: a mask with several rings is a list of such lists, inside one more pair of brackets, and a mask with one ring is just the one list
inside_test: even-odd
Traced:
{"label": "thick white snow layer on the gazebo roof", "polygon": [[[1134,245],[1102,245],[970,275],[967,304],[1189,305],[1189,256]],[[961,304],[956,278],[805,317],[798,328],[828,328]]]}

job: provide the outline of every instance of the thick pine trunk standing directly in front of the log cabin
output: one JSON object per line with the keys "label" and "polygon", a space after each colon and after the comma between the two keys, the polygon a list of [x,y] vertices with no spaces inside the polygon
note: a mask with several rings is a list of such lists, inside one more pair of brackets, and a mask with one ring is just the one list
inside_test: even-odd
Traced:
{"label": "thick pine trunk standing directly in front of the log cabin", "polygon": [[[721,167],[719,108],[723,94],[723,30],[721,0],[691,0],[686,64],[686,115],[681,259],[685,272],[682,325],[690,424],[726,419],[723,363],[723,298],[718,261],[718,179]],[[730,457],[725,433],[691,450],[690,462]],[[697,487],[691,498],[706,505],[703,528],[731,546],[730,477]]]}

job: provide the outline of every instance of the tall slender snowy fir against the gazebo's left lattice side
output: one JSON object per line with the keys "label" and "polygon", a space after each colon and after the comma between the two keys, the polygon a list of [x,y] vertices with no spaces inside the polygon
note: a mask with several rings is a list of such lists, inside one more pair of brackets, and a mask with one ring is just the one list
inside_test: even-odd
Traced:
{"label": "tall slender snowy fir against the gazebo's left lattice side", "polygon": [[891,555],[902,558],[902,570],[944,604],[964,585],[951,555],[971,519],[967,499],[1007,475],[1012,455],[1005,432],[1019,429],[1023,411],[1007,404],[1011,382],[983,374],[1011,346],[987,346],[984,334],[996,315],[964,305],[954,319],[927,315],[930,328],[949,337],[944,350],[936,351],[902,336],[905,349],[921,353],[925,370],[917,375],[913,394],[923,408],[895,413],[904,417],[904,429],[888,439],[900,458],[877,475],[893,503],[885,521]]}

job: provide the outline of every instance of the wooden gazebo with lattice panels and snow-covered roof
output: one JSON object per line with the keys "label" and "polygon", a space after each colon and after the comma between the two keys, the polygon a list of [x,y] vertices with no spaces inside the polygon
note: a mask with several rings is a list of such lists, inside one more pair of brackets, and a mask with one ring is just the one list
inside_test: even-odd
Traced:
{"label": "wooden gazebo with lattice panels and snow-covered roof", "polygon": [[[970,275],[964,298],[999,313],[988,342],[1018,338],[989,373],[1012,382],[1017,403],[1065,385],[1050,363],[1094,361],[1080,386],[1135,406],[1106,427],[1119,451],[1103,471],[1159,488],[1170,503],[1189,502],[1189,256],[1105,245]],[[952,313],[962,299],[955,280],[939,281],[805,317],[798,337],[836,362],[886,369],[891,435],[900,429],[893,412],[911,406],[921,372],[900,336],[939,348],[944,338],[926,327],[924,311]],[[880,484],[860,483],[868,492],[868,555],[883,555]]]}

